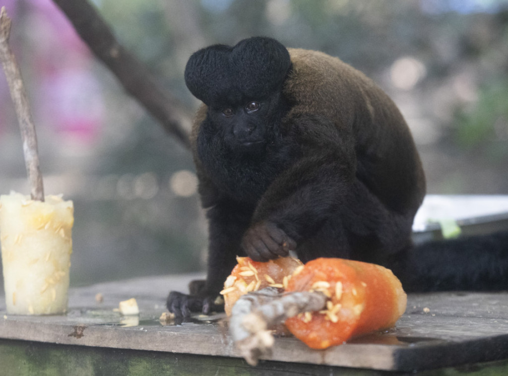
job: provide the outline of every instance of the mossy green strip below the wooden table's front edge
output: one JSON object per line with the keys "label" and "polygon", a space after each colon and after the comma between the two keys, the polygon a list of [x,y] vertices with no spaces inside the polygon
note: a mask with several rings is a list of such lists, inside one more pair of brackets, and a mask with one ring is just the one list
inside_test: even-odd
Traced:
{"label": "mossy green strip below the wooden table's front edge", "polygon": [[0,339],[0,375],[2,376],[255,376],[265,374],[376,376],[405,373],[273,361],[264,361],[257,367],[251,367],[237,358]]}

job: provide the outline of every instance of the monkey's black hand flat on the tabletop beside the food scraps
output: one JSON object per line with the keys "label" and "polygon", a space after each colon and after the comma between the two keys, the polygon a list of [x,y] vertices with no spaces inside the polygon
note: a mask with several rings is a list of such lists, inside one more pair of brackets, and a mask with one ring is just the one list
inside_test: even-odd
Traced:
{"label": "monkey's black hand flat on the tabletop beside the food scraps", "polygon": [[176,317],[190,317],[192,312],[202,312],[209,315],[213,311],[223,311],[224,304],[217,304],[217,294],[213,295],[187,295],[171,291],[166,301],[168,310]]}

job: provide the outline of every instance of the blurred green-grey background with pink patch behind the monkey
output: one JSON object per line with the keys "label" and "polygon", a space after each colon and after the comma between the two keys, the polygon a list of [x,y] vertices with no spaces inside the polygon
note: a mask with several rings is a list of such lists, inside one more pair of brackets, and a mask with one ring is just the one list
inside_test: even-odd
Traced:
{"label": "blurred green-grey background with pink patch behind the monkey", "polygon": [[[508,194],[508,0],[93,0],[117,39],[190,110],[189,55],[250,36],[321,50],[395,100],[432,194]],[[202,270],[190,153],[94,59],[51,0],[13,20],[47,194],[75,205],[71,285]],[[0,193],[29,193],[0,72]],[[2,278],[0,278],[2,284]]]}

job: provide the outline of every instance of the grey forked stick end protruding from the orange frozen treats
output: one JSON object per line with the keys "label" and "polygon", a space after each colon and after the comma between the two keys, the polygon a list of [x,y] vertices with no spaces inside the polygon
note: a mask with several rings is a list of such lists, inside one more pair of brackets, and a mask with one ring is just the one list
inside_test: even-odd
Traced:
{"label": "grey forked stick end protruding from the orange frozen treats", "polygon": [[256,365],[273,346],[270,328],[303,312],[321,310],[327,297],[321,292],[279,294],[275,288],[242,295],[233,306],[229,330],[243,358]]}

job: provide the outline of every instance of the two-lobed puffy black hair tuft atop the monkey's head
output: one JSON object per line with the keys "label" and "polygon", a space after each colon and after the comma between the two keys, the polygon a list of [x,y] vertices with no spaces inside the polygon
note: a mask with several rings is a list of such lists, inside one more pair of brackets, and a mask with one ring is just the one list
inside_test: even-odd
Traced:
{"label": "two-lobed puffy black hair tuft atop the monkey's head", "polygon": [[253,37],[234,47],[214,45],[195,52],[185,67],[185,84],[206,105],[241,103],[280,89],[290,67],[282,44]]}

